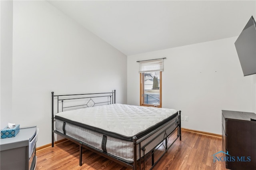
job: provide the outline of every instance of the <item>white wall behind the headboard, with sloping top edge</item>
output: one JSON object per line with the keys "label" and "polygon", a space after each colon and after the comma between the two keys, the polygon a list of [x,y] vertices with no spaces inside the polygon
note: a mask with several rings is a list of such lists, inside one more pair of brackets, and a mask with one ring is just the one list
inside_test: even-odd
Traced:
{"label": "white wall behind the headboard, with sloping top edge", "polygon": [[14,1],[12,122],[37,125],[37,146],[51,142],[51,92],[116,89],[127,103],[127,57],[47,1]]}

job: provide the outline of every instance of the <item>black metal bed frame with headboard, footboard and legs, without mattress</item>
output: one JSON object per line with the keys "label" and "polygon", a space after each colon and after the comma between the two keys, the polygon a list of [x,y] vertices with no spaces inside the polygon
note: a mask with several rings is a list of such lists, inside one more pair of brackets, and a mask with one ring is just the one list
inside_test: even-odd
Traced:
{"label": "black metal bed frame with headboard, footboard and legs, without mattress", "polygon": [[[78,96],[78,97],[76,97]],[[92,100],[92,98],[97,98],[97,97],[106,97],[108,98],[107,101],[103,101],[103,102],[99,102],[99,103],[94,103],[94,101]],[[160,132],[157,136],[155,136],[153,139],[151,139],[149,142],[147,142],[146,145],[143,146],[143,148],[141,148],[141,142],[143,140],[141,140],[140,142],[137,141],[137,137],[133,136],[132,138],[132,142],[133,142],[133,162],[129,162],[126,160],[123,160],[122,158],[118,158],[116,156],[113,156],[111,154],[108,154],[106,152],[103,152],[102,150],[99,150],[97,148],[94,148],[82,141],[76,140],[70,136],[66,136],[65,134],[62,134],[56,130],[54,130],[54,99],[57,98],[57,113],[59,113],[59,103],[61,102],[61,111],[63,111],[63,109],[67,109],[67,108],[73,108],[73,107],[90,107],[88,106],[89,101],[92,101],[94,104],[102,104],[102,103],[106,103],[106,104],[114,104],[116,103],[116,90],[112,91],[112,92],[108,92],[108,93],[86,93],[86,94],[74,94],[74,95],[54,95],[54,92],[52,92],[52,147],[54,147],[54,133],[67,138],[68,140],[71,140],[72,142],[76,143],[79,145],[79,165],[82,166],[82,148],[86,148],[88,150],[91,150],[93,152],[96,152],[97,154],[104,156],[114,162],[117,162],[118,164],[121,164],[122,166],[125,166],[127,168],[131,168],[133,170],[137,169],[137,166],[140,166],[141,169],[141,165],[143,163],[143,167],[145,170],[145,162],[146,160],[148,160],[148,158],[152,158],[152,166],[150,168],[150,170],[156,165],[156,163],[162,158],[162,156],[164,156],[164,154],[167,152],[167,150],[172,146],[172,144],[174,144],[174,142],[180,138],[181,140],[181,111],[178,112],[178,115],[176,117],[174,117],[174,119],[176,119],[176,121],[174,123],[172,123],[171,125],[169,125],[168,127],[166,127],[162,132]],[[110,98],[110,99],[109,99]],[[86,104],[83,105],[74,105],[74,106],[68,106],[68,107],[64,107],[63,103],[66,100],[77,100],[77,99],[89,99],[89,101]],[[93,107],[92,106],[92,107]],[[173,120],[173,119],[172,119]],[[167,122],[169,123],[169,122]],[[162,127],[165,127],[166,124],[162,125]],[[176,124],[176,128],[167,136],[166,134],[166,130],[168,128],[170,128],[171,126],[173,126],[174,124]],[[177,131],[177,137],[173,140],[173,142],[170,144],[170,146],[168,146],[168,138],[170,138],[170,136],[172,136],[172,134],[175,133],[175,131]],[[150,150],[150,152],[148,152],[147,154],[145,154],[145,147],[150,144],[150,142],[152,142],[154,139],[156,139],[158,136],[160,136],[162,133],[164,133],[164,139],[157,144],[152,150]],[[164,143],[162,143],[165,140],[165,146]],[[162,144],[161,144],[162,143]],[[139,159],[137,160],[137,145],[139,145]],[[162,155],[158,158],[158,160],[156,160],[156,162],[154,162],[154,150],[158,149],[161,145],[164,146],[165,151],[162,153]],[[141,151],[143,152],[143,155],[141,155]],[[143,161],[143,162],[142,162]]]}

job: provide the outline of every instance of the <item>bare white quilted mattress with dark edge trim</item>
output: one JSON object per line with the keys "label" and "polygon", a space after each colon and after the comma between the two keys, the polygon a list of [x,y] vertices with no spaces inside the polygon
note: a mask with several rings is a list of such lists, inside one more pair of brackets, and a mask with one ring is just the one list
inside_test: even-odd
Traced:
{"label": "bare white quilted mattress with dark edge trim", "polygon": [[[102,150],[103,134],[107,135],[107,152],[128,161],[133,161],[133,136],[141,146],[147,147],[147,153],[176,128],[178,119],[174,109],[122,104],[65,111],[57,113],[55,118],[57,131],[64,133],[65,122],[67,136],[99,150]],[[166,134],[162,132],[165,128],[168,128]],[[147,145],[158,134],[160,136]],[[139,158],[139,150],[137,155]]]}

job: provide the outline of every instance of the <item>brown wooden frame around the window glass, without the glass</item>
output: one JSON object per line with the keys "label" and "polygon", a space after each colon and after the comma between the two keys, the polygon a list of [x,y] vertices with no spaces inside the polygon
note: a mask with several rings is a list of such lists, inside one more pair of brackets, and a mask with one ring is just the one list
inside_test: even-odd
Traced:
{"label": "brown wooden frame around the window glass, without the glass", "polygon": [[159,85],[159,105],[150,105],[144,103],[144,73],[140,73],[140,106],[147,106],[147,107],[162,107],[162,71],[160,73],[160,85]]}

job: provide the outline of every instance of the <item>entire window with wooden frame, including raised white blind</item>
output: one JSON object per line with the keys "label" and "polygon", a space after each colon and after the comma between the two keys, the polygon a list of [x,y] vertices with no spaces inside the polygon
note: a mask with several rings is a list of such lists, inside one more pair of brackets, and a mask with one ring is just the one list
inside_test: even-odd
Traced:
{"label": "entire window with wooden frame, including raised white blind", "polygon": [[163,59],[138,62],[140,64],[140,105],[162,107]]}

